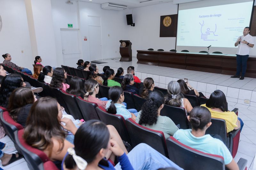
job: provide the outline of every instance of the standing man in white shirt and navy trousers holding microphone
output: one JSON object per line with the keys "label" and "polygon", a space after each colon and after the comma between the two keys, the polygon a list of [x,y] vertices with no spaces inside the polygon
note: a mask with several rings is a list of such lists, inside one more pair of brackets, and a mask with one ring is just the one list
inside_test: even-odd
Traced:
{"label": "standing man in white shirt and navy trousers holding microphone", "polygon": [[[244,74],[247,67],[247,59],[249,57],[250,48],[254,46],[254,39],[250,33],[250,28],[245,27],[242,36],[238,37],[235,47],[238,46],[236,51],[236,75],[231,76],[231,78],[240,78],[244,80]],[[242,76],[240,77],[242,65]]]}

